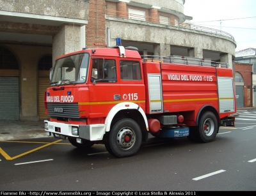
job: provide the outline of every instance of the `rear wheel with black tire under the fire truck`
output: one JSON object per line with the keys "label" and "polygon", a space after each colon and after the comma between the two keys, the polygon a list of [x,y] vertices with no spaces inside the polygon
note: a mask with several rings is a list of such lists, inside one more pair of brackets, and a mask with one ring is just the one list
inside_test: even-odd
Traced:
{"label": "rear wheel with black tire under the fire truck", "polygon": [[212,142],[218,133],[218,121],[212,112],[205,112],[198,126],[191,128],[188,139],[195,142]]}

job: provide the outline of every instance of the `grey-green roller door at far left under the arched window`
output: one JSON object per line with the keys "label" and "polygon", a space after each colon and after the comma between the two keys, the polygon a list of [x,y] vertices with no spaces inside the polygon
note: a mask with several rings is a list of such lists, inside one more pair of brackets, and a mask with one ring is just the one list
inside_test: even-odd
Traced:
{"label": "grey-green roller door at far left under the arched window", "polygon": [[19,121],[19,77],[0,77],[0,121]]}

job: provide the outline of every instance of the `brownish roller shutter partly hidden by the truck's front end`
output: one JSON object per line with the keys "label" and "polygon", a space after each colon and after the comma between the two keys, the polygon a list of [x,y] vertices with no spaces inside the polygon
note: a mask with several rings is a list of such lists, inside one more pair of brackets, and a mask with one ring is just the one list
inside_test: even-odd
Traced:
{"label": "brownish roller shutter partly hidden by the truck's front end", "polygon": [[49,119],[50,116],[45,114],[44,108],[44,92],[49,87],[50,79],[49,77],[39,77],[39,86],[38,86],[38,110],[39,110],[39,119]]}

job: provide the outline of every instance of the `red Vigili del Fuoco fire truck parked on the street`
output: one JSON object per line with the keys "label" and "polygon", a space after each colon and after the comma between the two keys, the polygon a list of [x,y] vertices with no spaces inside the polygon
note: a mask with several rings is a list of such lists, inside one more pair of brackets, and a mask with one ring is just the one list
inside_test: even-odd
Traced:
{"label": "red Vigili del Fuoco fire truck parked on the street", "polygon": [[44,102],[47,135],[76,147],[104,144],[120,158],[135,155],[149,133],[212,142],[220,126],[234,126],[236,113],[233,71],[225,64],[140,56],[123,46],[57,57]]}

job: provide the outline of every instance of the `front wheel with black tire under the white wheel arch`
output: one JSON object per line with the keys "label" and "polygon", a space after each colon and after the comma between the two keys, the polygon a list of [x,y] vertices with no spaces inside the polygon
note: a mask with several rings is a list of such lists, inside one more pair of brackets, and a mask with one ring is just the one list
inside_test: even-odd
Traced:
{"label": "front wheel with black tire under the white wheel arch", "polygon": [[105,147],[118,158],[133,156],[140,149],[142,133],[136,121],[123,118],[117,121],[106,133]]}

